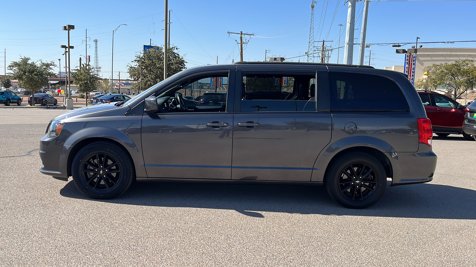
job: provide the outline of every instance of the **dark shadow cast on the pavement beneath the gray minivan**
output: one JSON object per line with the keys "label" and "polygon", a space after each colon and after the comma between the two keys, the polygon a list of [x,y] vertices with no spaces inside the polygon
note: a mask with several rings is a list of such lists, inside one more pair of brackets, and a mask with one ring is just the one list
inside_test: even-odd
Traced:
{"label": "dark shadow cast on the pavement beneath the gray minivan", "polygon": [[[390,182],[389,182],[390,183]],[[236,210],[251,217],[261,212],[377,216],[429,219],[476,219],[476,191],[439,184],[387,186],[377,204],[363,210],[347,209],[332,200],[320,186],[237,185],[209,183],[137,182],[121,196],[94,200],[82,195],[69,181],[64,197],[108,203]]]}

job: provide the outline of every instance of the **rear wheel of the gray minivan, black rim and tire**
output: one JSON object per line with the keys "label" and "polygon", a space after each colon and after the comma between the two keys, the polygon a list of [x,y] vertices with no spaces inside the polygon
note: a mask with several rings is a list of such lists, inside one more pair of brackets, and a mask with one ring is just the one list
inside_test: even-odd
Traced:
{"label": "rear wheel of the gray minivan, black rim and tire", "polygon": [[[350,176],[353,174],[352,169],[356,174],[355,180],[352,178],[354,175]],[[367,172],[367,176],[364,176]],[[325,183],[327,192],[337,203],[350,209],[364,209],[382,197],[387,186],[387,175],[382,163],[375,157],[354,152],[331,163],[326,172]]]}

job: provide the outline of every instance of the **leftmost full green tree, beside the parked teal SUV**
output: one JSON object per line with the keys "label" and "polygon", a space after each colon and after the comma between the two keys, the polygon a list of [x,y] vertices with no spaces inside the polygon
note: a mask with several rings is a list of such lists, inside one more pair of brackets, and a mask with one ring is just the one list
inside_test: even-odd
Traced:
{"label": "leftmost full green tree, beside the parked teal SUV", "polygon": [[[11,71],[11,78],[18,80],[23,88],[32,92],[33,97],[35,90],[48,86],[49,77],[56,75],[53,72],[53,67],[56,67],[53,61],[43,62],[39,60],[34,62],[30,61],[30,57],[22,57],[19,61],[11,62],[8,69]],[[31,103],[35,105],[35,101],[31,101]]]}

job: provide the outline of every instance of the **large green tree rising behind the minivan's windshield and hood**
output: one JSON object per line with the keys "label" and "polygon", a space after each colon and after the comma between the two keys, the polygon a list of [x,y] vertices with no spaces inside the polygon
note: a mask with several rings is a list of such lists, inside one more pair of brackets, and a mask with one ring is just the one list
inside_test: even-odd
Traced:
{"label": "large green tree rising behind the minivan's windshield and hood", "polygon": [[[185,69],[187,63],[182,56],[178,54],[177,47],[171,47],[168,50],[167,76],[172,76]],[[147,89],[164,79],[164,48],[149,49],[143,54],[136,55],[136,58],[128,65],[129,77],[138,81],[132,85],[132,90],[139,91]]]}

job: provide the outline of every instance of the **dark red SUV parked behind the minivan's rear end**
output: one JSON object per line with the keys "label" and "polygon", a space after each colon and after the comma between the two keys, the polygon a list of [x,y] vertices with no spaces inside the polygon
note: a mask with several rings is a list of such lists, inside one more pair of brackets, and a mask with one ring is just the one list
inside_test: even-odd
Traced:
{"label": "dark red SUV parked behind the minivan's rear end", "polygon": [[433,125],[433,133],[438,136],[463,134],[466,140],[474,140],[471,134],[463,132],[461,127],[465,119],[465,106],[455,100],[430,91],[418,91],[425,106],[426,116]]}

